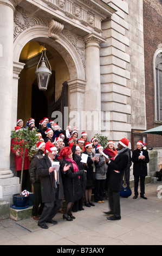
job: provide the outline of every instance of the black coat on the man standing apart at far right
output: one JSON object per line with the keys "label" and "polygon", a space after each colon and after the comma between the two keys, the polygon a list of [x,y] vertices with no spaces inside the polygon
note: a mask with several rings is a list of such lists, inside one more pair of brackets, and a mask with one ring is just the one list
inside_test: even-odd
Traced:
{"label": "black coat on the man standing apart at far right", "polygon": [[[138,159],[141,151],[145,156],[144,160]],[[148,152],[145,149],[142,149],[141,151],[139,149],[135,149],[132,153],[133,175],[147,176],[147,163],[149,162]]]}

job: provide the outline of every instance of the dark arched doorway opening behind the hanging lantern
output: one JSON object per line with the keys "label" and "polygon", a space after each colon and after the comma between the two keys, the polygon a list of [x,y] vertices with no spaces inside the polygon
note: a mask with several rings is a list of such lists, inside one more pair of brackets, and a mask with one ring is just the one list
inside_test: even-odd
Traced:
{"label": "dark arched doorway opening behind the hanging lantern", "polygon": [[61,106],[68,107],[68,92],[64,94],[62,101],[62,88],[64,89],[62,84],[64,80],[69,80],[69,71],[60,54],[47,44],[46,54],[52,75],[47,90],[38,89],[35,70],[41,57],[40,46],[42,46],[41,42],[31,41],[23,47],[20,62],[25,65],[18,83],[17,118],[23,119],[26,123],[32,117],[35,119],[36,127],[44,117],[51,119],[53,111],[62,111],[63,108],[60,108],[58,101],[63,102]]}

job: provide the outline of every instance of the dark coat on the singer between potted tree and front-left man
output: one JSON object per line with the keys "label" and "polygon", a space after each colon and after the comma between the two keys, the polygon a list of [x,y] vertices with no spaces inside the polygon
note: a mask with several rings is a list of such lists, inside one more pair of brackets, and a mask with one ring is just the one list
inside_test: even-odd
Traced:
{"label": "dark coat on the singer between potted tree and front-left man", "polygon": [[43,151],[40,149],[38,150],[38,153],[36,153],[31,159],[29,174],[30,174],[30,180],[32,183],[40,182],[40,179],[38,179],[38,176],[37,176],[36,169],[37,169],[37,161],[40,160],[42,157],[43,157]]}

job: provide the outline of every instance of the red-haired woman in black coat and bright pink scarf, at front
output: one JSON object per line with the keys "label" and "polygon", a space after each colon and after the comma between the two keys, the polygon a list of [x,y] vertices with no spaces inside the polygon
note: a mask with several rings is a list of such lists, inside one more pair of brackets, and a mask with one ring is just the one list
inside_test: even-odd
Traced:
{"label": "red-haired woman in black coat and bright pink scarf, at front", "polygon": [[66,211],[63,214],[63,219],[67,221],[73,221],[75,218],[72,214],[72,207],[76,200],[79,200],[83,196],[83,191],[80,182],[80,175],[85,170],[79,170],[76,162],[73,160],[73,153],[69,147],[64,147],[60,151],[60,156],[57,159],[63,159],[62,169],[65,164],[70,164],[70,168],[64,174],[64,197],[67,203]]}

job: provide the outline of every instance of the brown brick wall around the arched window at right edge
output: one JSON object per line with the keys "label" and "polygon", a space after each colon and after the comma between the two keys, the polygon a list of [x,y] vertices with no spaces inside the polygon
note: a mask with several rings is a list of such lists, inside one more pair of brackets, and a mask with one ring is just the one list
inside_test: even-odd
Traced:
{"label": "brown brick wall around the arched window at right edge", "polygon": [[[154,123],[153,55],[162,43],[162,5],[160,0],[143,1],[146,129],[162,125]],[[148,147],[161,148],[162,136],[148,135]]]}

